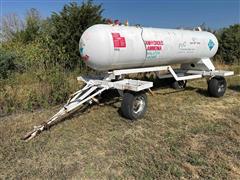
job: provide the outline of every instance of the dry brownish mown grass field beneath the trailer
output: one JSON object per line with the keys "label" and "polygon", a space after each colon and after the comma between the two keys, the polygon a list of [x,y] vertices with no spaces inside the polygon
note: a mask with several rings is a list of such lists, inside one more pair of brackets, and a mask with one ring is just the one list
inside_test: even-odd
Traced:
{"label": "dry brownish mown grass field beneath the trailer", "polygon": [[27,143],[20,137],[59,106],[1,117],[0,179],[240,179],[240,76],[227,82],[220,99],[205,80],[157,88],[134,122],[114,98]]}

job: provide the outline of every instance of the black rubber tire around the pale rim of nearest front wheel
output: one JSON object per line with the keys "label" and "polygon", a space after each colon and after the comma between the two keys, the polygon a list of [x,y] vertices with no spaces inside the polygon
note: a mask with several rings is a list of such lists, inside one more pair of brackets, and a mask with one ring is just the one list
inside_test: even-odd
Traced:
{"label": "black rubber tire around the pale rim of nearest front wheel", "polygon": [[[135,99],[139,96],[142,96],[145,101],[145,106],[143,110],[139,113],[134,113],[133,111],[133,103]],[[121,112],[122,115],[130,120],[137,120],[143,118],[147,111],[147,95],[145,92],[138,92],[138,93],[132,93],[132,92],[126,92],[123,95],[123,100],[121,104]]]}

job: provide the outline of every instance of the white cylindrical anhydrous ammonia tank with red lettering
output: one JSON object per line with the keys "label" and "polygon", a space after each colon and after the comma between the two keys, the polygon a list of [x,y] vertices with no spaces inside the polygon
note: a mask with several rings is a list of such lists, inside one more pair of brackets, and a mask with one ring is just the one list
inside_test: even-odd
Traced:
{"label": "white cylindrical anhydrous ammonia tank with red lettering", "polygon": [[79,43],[85,63],[100,71],[194,63],[214,56],[216,37],[205,31],[98,24]]}

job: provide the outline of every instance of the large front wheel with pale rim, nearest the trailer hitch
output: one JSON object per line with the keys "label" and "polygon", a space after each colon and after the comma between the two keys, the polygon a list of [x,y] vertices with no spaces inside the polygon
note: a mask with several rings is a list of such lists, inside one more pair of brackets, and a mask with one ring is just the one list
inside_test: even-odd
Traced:
{"label": "large front wheel with pale rim, nearest the trailer hitch", "polygon": [[146,110],[147,96],[144,92],[124,93],[121,104],[121,111],[124,117],[131,120],[140,119],[144,116]]}

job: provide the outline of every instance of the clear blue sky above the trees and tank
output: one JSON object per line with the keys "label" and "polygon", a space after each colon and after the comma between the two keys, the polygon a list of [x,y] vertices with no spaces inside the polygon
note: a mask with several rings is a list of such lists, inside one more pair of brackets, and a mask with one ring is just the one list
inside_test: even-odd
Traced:
{"label": "clear blue sky above the trees and tank", "polygon": [[[0,0],[1,17],[15,13],[21,18],[36,8],[46,18],[59,12],[70,0]],[[76,1],[81,3],[82,1]],[[95,0],[102,4],[103,17],[128,20],[146,27],[196,27],[205,23],[212,29],[240,23],[240,0]]]}

